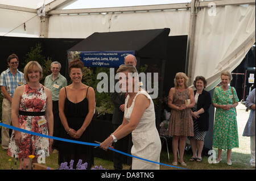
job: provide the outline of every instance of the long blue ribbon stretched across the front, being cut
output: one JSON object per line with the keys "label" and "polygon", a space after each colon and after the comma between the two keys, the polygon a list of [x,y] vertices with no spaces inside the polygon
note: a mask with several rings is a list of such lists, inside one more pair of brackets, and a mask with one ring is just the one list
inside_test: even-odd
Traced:
{"label": "long blue ribbon stretched across the front, being cut", "polygon": [[[35,132],[27,131],[26,129],[16,128],[16,127],[13,127],[13,126],[11,126],[11,125],[4,124],[4,123],[0,123],[0,126],[6,127],[6,128],[9,128],[9,129],[13,129],[13,130],[15,130],[15,131],[19,131],[19,132],[23,132],[23,133],[27,133],[27,134],[32,134],[32,135],[34,135],[34,136],[45,137],[45,138],[49,138],[49,139],[53,139],[53,140],[59,140],[59,141],[65,141],[65,142],[72,142],[72,143],[81,144],[81,145],[100,146],[100,144],[94,144],[94,143],[90,143],[90,142],[82,142],[82,141],[76,141],[76,140],[69,140],[69,139],[59,138],[59,137],[55,137],[55,136],[48,136],[48,135],[46,135],[46,134],[35,133]],[[121,153],[121,154],[123,154],[123,155],[126,155],[126,156],[128,156],[128,157],[133,157],[133,158],[141,159],[141,160],[143,160],[143,161],[147,161],[147,162],[151,162],[151,163],[156,163],[156,164],[164,165],[164,166],[168,166],[168,167],[175,167],[175,168],[177,168],[177,169],[185,169],[185,168],[182,168],[182,167],[176,167],[176,166],[167,165],[167,164],[164,164],[164,163],[154,162],[154,161],[151,161],[151,160],[148,160],[148,159],[136,157],[136,156],[134,156],[134,155],[127,154],[127,153],[124,153],[123,151],[115,150],[115,149],[113,149],[113,148],[108,148],[108,149],[110,149],[110,150],[112,150],[112,151],[115,151],[115,152],[117,152],[117,153]],[[187,170],[187,169],[186,169],[186,170]]]}

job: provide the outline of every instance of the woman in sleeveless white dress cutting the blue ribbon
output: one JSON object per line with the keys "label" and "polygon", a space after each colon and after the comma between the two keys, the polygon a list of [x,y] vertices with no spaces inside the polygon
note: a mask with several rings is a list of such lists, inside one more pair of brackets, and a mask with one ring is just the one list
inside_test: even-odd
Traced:
{"label": "woman in sleeveless white dress cutting the blue ribbon", "polygon": [[[125,114],[122,124],[101,143],[100,148],[107,150],[113,142],[117,142],[131,133],[133,140],[131,154],[136,157],[159,162],[161,142],[155,126],[154,103],[150,95],[139,87],[138,71],[135,66],[121,65],[117,73],[121,75],[119,82],[122,91],[128,92],[125,99]],[[159,170],[159,165],[133,158],[131,169]]]}

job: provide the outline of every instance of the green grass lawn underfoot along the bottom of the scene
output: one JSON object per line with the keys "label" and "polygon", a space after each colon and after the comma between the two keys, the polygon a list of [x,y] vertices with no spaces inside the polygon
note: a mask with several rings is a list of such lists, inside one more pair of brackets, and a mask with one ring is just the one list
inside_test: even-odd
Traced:
{"label": "green grass lawn underfoot along the bottom of the scene", "polygon": [[[217,150],[216,150],[217,152]],[[170,161],[168,161],[167,151],[162,151],[160,162],[171,165],[172,162],[172,153],[170,153]],[[201,163],[199,162],[190,162],[188,159],[191,158],[190,154],[184,155],[184,161],[187,163],[186,169],[192,169],[192,170],[255,170],[255,168],[250,167],[249,160],[250,160],[250,154],[243,154],[233,151],[232,153],[232,166],[226,165],[226,151],[222,151],[222,162],[218,164],[210,164],[208,163],[208,157],[203,157],[203,161]],[[11,159],[11,161],[9,161]],[[6,151],[0,150],[0,169],[1,170],[10,170],[10,169],[18,169],[19,162],[14,162],[14,158],[11,158],[7,156]],[[57,164],[58,160],[58,154],[53,153],[50,155],[50,157],[46,158],[46,166],[51,167],[52,169],[57,169],[59,166]],[[113,162],[112,161],[106,161],[101,158],[94,158],[94,165],[102,166],[105,169],[113,170]],[[182,167],[181,165],[178,165],[178,167]],[[129,170],[129,165],[123,165],[124,170]],[[174,167],[168,167],[168,166],[160,166],[160,169],[163,170],[180,170]]]}

